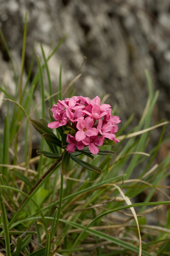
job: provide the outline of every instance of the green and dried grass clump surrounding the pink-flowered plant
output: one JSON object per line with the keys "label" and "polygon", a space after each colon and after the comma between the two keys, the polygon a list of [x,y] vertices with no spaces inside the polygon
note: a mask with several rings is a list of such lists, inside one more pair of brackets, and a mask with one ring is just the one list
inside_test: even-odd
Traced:
{"label": "green and dried grass clump surrounding the pink-flowered plant", "polygon": [[[92,172],[70,159],[67,176],[61,175],[63,149],[47,144],[42,138],[40,151],[55,150],[56,159],[42,155],[31,158],[32,129],[30,119],[41,119],[44,129],[50,121],[46,102],[52,107],[52,90],[48,60],[58,50],[63,39],[49,56],[41,45],[43,62],[37,57],[38,69],[32,82],[23,84],[26,22],[23,40],[20,78],[17,80],[7,44],[1,37],[11,60],[16,83],[15,97],[0,87],[4,94],[6,116],[0,140],[0,252],[1,255],[169,255],[170,196],[166,184],[170,174],[170,152],[160,161],[157,156],[169,141],[165,137],[167,121],[151,126],[152,111],[158,98],[153,92],[148,72],[148,101],[137,127],[123,134],[133,116],[121,124],[114,147],[117,156],[96,155],[94,159],[80,155],[79,159],[97,166],[102,174]],[[33,49],[34,54],[34,49]],[[44,89],[47,73],[49,91]],[[60,66],[57,99],[64,97],[68,88],[62,87]],[[77,75],[70,83],[78,79]],[[18,90],[19,84],[19,90]],[[34,101],[41,91],[41,113]],[[45,95],[49,95],[45,98]],[[51,97],[52,96],[52,97]],[[70,90],[70,97],[72,91]],[[2,107],[1,105],[1,107]],[[12,108],[11,108],[12,106]],[[116,109],[115,113],[116,114]],[[35,117],[36,116],[36,117]],[[45,121],[45,118],[49,118]],[[159,141],[149,152],[147,145],[153,129],[162,126]],[[24,130],[24,147],[20,150],[21,131]],[[37,136],[41,136],[37,133]],[[61,134],[57,134],[61,138]],[[110,150],[112,146],[103,146]],[[22,160],[25,158],[24,161]],[[38,166],[35,168],[35,163]],[[139,198],[144,196],[142,202]],[[159,199],[161,198],[161,200]],[[3,222],[2,222],[3,221]]]}

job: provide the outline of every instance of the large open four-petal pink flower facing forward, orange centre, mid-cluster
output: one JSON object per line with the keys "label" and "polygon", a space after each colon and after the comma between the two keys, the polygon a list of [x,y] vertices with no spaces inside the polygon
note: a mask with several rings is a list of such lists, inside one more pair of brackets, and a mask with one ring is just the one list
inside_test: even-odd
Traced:
{"label": "large open four-petal pink flower facing forward, orange centre, mid-cluster", "polygon": [[75,134],[76,141],[84,140],[86,136],[98,135],[98,130],[92,128],[92,126],[93,119],[90,116],[87,116],[84,120],[79,119],[76,125],[79,130]]}

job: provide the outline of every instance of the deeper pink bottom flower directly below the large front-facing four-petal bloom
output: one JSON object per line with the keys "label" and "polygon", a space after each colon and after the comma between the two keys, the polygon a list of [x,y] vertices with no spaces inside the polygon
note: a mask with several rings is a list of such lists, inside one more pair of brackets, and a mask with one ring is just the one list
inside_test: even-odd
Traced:
{"label": "deeper pink bottom flower directly below the large front-facing four-petal bloom", "polygon": [[[93,155],[97,155],[99,153],[99,148],[98,146],[103,145],[103,142],[105,140],[104,137],[100,136],[91,136],[91,137],[86,137],[82,142],[87,146],[89,146],[89,150]],[[97,146],[98,145],[98,146]]]}

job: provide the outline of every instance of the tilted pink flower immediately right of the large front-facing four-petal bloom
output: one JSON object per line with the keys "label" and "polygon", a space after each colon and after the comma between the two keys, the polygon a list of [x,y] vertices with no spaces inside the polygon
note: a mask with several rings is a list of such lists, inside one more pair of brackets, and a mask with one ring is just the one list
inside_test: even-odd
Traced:
{"label": "tilted pink flower immediately right of the large front-facing four-petal bloom", "polygon": [[115,134],[111,134],[113,125],[111,122],[108,122],[107,124],[103,124],[103,121],[101,119],[99,119],[99,123],[97,125],[97,130],[99,131],[99,133],[105,137],[108,138],[109,140],[114,140],[116,135]]}

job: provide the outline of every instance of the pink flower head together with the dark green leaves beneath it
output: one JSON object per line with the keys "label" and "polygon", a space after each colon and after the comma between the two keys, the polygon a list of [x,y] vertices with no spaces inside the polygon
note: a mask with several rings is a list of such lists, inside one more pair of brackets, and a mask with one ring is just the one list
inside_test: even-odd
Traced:
{"label": "pink flower head together with the dark green leaves beneath it", "polygon": [[[98,96],[92,100],[88,97],[73,96],[58,100],[56,105],[49,109],[49,114],[51,123],[44,119],[31,119],[34,128],[42,134],[52,151],[50,153],[37,150],[37,153],[49,158],[61,158],[62,175],[68,172],[70,157],[85,168],[101,173],[100,168],[84,162],[77,156],[84,154],[93,159],[93,155],[97,154],[115,155],[114,151],[99,150],[98,147],[119,142],[115,133],[118,131],[117,124],[121,121],[119,116],[111,115],[111,106],[100,105]],[[60,138],[52,129],[57,130]],[[62,155],[58,154],[57,147],[65,149]]]}

